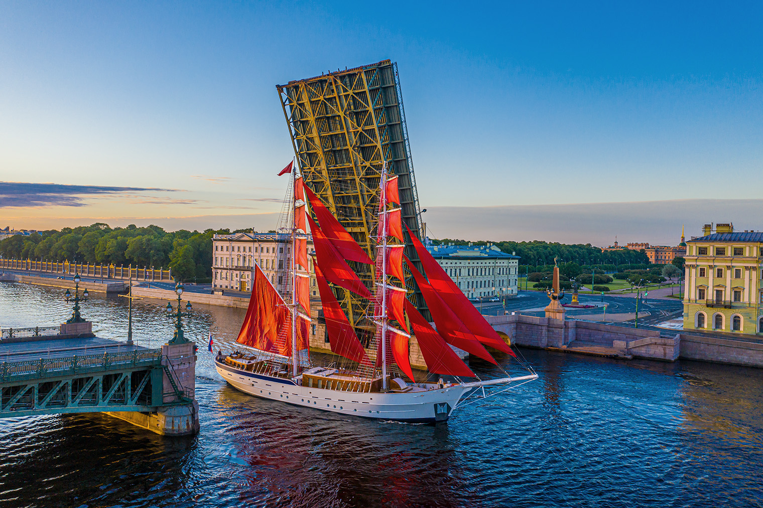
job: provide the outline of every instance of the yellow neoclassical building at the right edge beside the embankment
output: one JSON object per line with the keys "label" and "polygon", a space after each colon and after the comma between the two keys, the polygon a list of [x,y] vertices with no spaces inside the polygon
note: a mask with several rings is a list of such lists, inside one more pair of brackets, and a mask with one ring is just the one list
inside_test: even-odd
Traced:
{"label": "yellow neoclassical building at the right edge beside the embankment", "polygon": [[684,330],[761,333],[763,232],[706,224],[687,242]]}

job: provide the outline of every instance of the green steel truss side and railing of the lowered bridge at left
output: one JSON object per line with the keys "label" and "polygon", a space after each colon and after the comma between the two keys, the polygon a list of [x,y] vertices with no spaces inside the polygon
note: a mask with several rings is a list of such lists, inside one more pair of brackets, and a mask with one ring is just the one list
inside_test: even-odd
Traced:
{"label": "green steel truss side and railing of the lowered bridge at left", "polygon": [[[34,330],[34,329],[31,329]],[[0,418],[56,413],[156,411],[189,404],[161,349],[40,358],[0,365]],[[163,392],[163,376],[173,391]],[[165,402],[170,397],[172,402]]]}

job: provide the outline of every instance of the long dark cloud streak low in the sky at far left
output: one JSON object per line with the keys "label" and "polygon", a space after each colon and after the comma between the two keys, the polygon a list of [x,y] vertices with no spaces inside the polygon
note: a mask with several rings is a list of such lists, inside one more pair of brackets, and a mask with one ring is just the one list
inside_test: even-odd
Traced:
{"label": "long dark cloud streak low in the sky at far left", "polygon": [[175,189],[0,182],[0,207],[82,207],[87,197],[135,191],[173,192]]}

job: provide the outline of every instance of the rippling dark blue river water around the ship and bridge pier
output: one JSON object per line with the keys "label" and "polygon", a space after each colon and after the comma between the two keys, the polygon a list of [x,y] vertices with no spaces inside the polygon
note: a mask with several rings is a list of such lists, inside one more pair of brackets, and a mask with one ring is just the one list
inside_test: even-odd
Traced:
{"label": "rippling dark blue river water around the ship and bridge pier", "polygon": [[[0,283],[0,325],[63,322],[61,294]],[[135,301],[140,344],[172,336],[165,306]],[[198,436],[101,414],[2,420],[0,506],[763,506],[760,369],[524,349],[539,380],[446,425],[383,423],[224,384],[206,337],[232,345],[243,313],[198,305],[188,320]],[[124,339],[125,298],[94,294],[82,314]]]}

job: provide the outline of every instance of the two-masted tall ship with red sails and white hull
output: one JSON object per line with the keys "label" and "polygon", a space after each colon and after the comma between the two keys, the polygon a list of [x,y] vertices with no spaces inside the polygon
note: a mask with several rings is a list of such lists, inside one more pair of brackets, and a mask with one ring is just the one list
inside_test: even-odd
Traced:
{"label": "two-masted tall ship with red sails and white hull", "polygon": [[[255,397],[314,410],[439,422],[473,400],[538,377],[468,301],[417,233],[403,223],[398,175],[388,170],[386,162],[373,192],[374,256],[362,249],[340,223],[341,216],[332,214],[303,175],[297,175],[298,166],[283,171],[291,176],[287,226],[282,228],[290,236],[288,291],[279,294],[255,265],[252,296],[237,338],[240,348],[218,352],[215,358],[217,371],[228,384]],[[307,254],[308,224],[313,259]],[[404,252],[406,245],[413,246],[416,263]],[[309,262],[320,294],[316,319],[311,317]],[[364,283],[358,272],[370,273],[370,283]],[[415,289],[406,284],[410,278]],[[434,326],[414,304],[418,294]],[[352,323],[340,300],[362,309]],[[311,361],[308,330],[316,320],[325,325],[330,349],[337,356],[334,362]],[[411,337],[427,365],[427,371],[418,375],[410,365]],[[512,357],[526,374],[509,375],[486,346]],[[479,378],[454,348],[491,362],[491,370],[501,375]]]}

